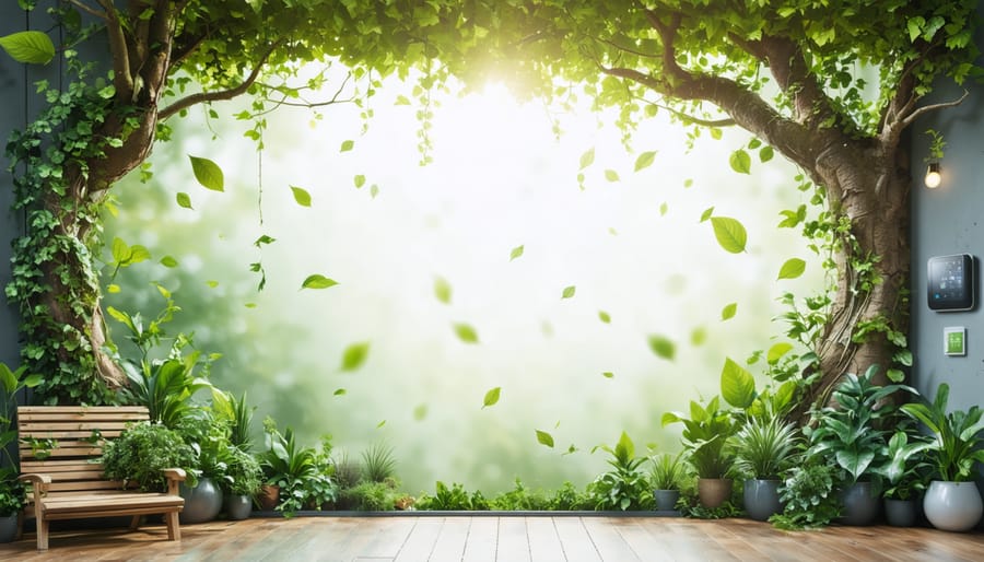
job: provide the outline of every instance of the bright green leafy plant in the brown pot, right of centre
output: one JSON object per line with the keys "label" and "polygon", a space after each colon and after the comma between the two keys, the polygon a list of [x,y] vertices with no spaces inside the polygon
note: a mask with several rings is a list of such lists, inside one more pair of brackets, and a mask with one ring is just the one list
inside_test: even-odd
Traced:
{"label": "bright green leafy plant in the brown pot, right of centre", "polygon": [[698,475],[698,496],[705,507],[719,507],[731,496],[729,478],[734,450],[729,437],[736,430],[731,413],[721,409],[717,396],[707,406],[691,400],[690,418],[679,412],[663,414],[663,425],[683,424],[683,448]]}

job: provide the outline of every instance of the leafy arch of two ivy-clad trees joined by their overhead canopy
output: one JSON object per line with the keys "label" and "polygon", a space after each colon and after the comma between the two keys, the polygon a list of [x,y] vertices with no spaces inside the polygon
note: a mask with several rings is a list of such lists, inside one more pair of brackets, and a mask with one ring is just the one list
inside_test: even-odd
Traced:
{"label": "leafy arch of two ivy-clad trees joined by their overhead canopy", "polygon": [[[46,289],[22,295],[16,280],[12,284],[27,317],[28,338],[47,341],[63,320],[74,328],[71,349],[98,358],[94,364],[110,384],[120,377],[99,352],[104,338],[97,284],[89,283],[68,303],[58,297],[66,294],[60,267],[67,265],[73,279],[92,278],[85,250],[97,243],[92,206],[105,201],[113,182],[143,162],[155,134],[166,137],[162,122],[168,117],[196,104],[254,95],[257,105],[246,117],[257,119],[260,134],[261,116],[271,104],[305,103],[300,90],[285,82],[296,77],[298,63],[326,57],[360,69],[355,78],[422,69],[424,98],[452,74],[470,83],[505,80],[560,103],[590,96],[599,108],[620,109],[619,124],[630,138],[633,128],[660,110],[692,125],[693,134],[702,128],[747,129],[757,138],[748,150],[733,154],[733,168],[748,173],[751,150],[763,162],[777,151],[804,171],[808,180],[799,187],[815,189],[815,201],[824,206],[816,216],[792,210],[782,223],[803,227],[818,251],[829,253],[835,272],[829,302],[819,298],[810,305],[821,318],[811,325],[816,329],[792,331],[816,349],[808,368],[822,374],[815,387],[818,396],[825,396],[845,372],[864,372],[877,363],[891,366],[898,377],[899,367],[911,361],[905,350],[911,178],[903,133],[927,112],[961,101],[921,105],[937,79],[960,83],[977,72],[972,42],[976,1],[116,4],[72,0],[59,12],[63,24],[75,28],[81,28],[78,14],[95,17],[109,38],[112,84],[85,82],[80,99],[61,110],[62,122],[75,130],[87,122],[95,138],[105,141],[72,152],[71,138],[44,127],[28,131],[68,147],[58,156],[65,162],[52,163],[61,177],[28,173],[19,178],[22,189],[35,194],[19,196],[22,204],[55,216],[45,224],[67,242],[34,273],[34,284],[48,283]],[[190,86],[194,93],[186,93]],[[372,87],[370,78],[361,95],[370,96]],[[163,105],[165,99],[174,101]],[[424,118],[429,110],[422,112]],[[22,139],[16,157],[38,169],[35,164],[44,162],[31,159],[45,155],[32,147],[43,144]],[[49,187],[56,189],[46,191]],[[87,211],[79,213],[82,208]],[[38,249],[19,244],[19,259]],[[38,304],[56,311],[59,323],[31,319]],[[795,324],[799,313],[790,314]],[[38,333],[32,335],[35,327]]]}

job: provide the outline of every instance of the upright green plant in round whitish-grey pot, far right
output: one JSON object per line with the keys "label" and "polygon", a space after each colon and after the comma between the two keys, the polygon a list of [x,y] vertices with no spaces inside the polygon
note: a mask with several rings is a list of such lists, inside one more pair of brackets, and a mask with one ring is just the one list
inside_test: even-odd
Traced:
{"label": "upright green plant in round whitish-grey pot, far right", "polygon": [[934,435],[926,448],[935,478],[923,497],[926,518],[938,529],[964,531],[973,528],[984,512],[972,479],[974,463],[984,463],[984,450],[980,448],[984,410],[972,406],[947,413],[949,395],[950,387],[944,383],[932,403],[906,403],[902,411],[921,421]]}

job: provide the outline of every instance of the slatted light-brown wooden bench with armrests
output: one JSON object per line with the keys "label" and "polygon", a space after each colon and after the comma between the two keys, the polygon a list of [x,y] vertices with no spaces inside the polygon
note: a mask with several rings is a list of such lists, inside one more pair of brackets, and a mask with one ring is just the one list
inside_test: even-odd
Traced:
{"label": "slatted light-brown wooden bench with armrests", "polygon": [[140,517],[163,514],[168,540],[181,540],[178,512],[185,500],[178,483],[181,469],[165,470],[167,492],[124,490],[118,481],[103,477],[98,463],[102,442],[118,437],[130,423],[147,420],[148,410],[138,406],[22,406],[17,408],[21,479],[30,482],[25,517],[37,519],[37,550],[48,549],[52,520],[89,517],[132,516],[130,529]]}

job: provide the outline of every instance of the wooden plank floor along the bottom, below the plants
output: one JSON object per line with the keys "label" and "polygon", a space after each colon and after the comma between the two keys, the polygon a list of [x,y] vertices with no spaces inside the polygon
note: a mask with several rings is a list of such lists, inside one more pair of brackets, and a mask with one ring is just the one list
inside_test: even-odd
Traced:
{"label": "wooden plank floor along the bottom, below the plants", "polygon": [[830,527],[785,532],[749,519],[657,517],[297,517],[61,531],[46,553],[33,535],[0,545],[20,561],[979,561],[984,534],[926,528]]}

